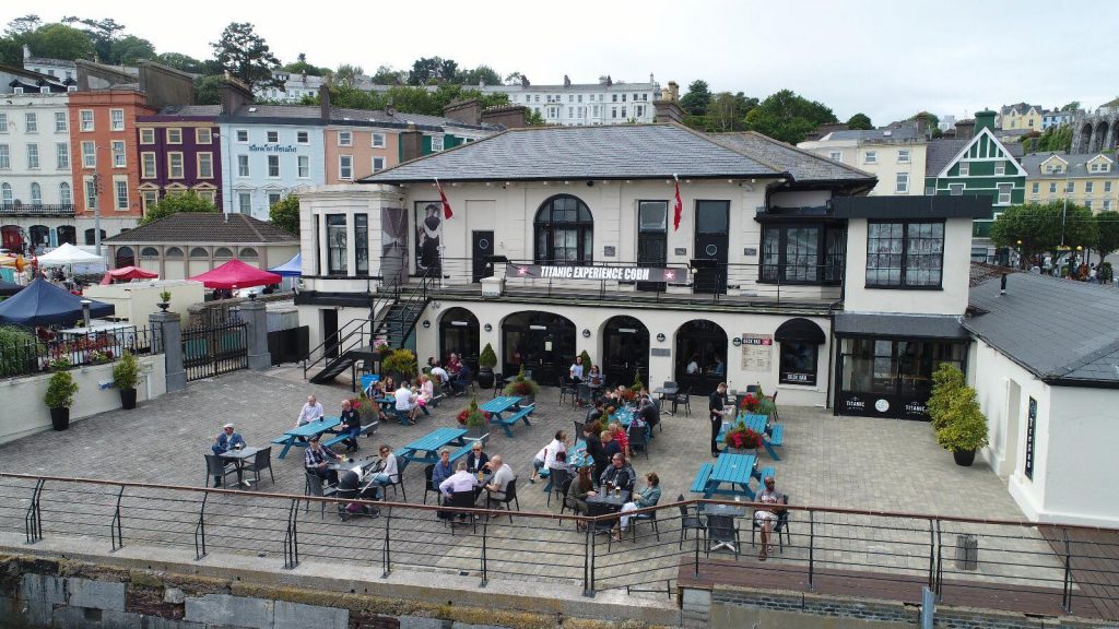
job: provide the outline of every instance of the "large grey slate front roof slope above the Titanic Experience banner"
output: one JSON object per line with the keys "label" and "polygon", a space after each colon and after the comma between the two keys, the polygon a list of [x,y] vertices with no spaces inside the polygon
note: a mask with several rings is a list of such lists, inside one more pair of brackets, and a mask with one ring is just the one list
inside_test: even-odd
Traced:
{"label": "large grey slate front roof slope above the Titanic Experience banner", "polygon": [[679,124],[514,129],[370,175],[364,184],[779,177],[781,169]]}

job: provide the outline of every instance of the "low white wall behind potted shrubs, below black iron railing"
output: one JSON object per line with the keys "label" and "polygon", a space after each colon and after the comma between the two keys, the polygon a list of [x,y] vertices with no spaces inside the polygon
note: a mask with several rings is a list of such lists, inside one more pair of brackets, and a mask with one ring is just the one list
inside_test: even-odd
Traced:
{"label": "low white wall behind potted shrubs, below black iron railing", "polygon": [[[137,385],[137,401],[143,403],[167,393],[167,368],[163,355],[139,357],[141,366],[140,384]],[[121,407],[120,391],[112,386],[113,363],[77,367],[70,372],[78,385],[70,409],[70,422],[97,413]],[[0,381],[0,443],[51,430],[50,411],[43,403],[50,374]],[[101,388],[103,384],[110,386]],[[137,413],[143,413],[142,405]]]}

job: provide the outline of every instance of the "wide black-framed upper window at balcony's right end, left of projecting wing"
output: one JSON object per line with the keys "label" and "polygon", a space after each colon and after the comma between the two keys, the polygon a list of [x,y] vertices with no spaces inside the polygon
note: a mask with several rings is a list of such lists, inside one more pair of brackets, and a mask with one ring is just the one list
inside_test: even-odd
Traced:
{"label": "wide black-framed upper window at balcony's right end, left of projecting wing", "polygon": [[838,225],[767,225],[760,281],[837,284],[843,280],[846,242]]}

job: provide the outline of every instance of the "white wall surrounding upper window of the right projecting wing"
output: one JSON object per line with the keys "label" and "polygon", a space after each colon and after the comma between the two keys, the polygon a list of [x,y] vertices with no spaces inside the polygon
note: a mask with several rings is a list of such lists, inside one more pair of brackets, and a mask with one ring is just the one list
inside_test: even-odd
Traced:
{"label": "white wall surrounding upper window of the right projecting wing", "polygon": [[971,267],[971,219],[944,220],[941,290],[872,289],[866,285],[865,218],[847,223],[847,280],[844,308],[853,312],[962,314],[968,307]]}

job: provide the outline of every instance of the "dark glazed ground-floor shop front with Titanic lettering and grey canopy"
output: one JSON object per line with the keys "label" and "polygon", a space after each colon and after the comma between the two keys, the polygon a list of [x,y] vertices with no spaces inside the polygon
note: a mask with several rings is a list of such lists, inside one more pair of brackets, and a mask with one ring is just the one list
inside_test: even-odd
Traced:
{"label": "dark glazed ground-floor shop front with Titanic lettering and grey canopy", "polygon": [[970,337],[958,317],[835,316],[835,414],[929,421],[932,373],[967,369]]}

